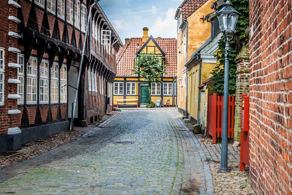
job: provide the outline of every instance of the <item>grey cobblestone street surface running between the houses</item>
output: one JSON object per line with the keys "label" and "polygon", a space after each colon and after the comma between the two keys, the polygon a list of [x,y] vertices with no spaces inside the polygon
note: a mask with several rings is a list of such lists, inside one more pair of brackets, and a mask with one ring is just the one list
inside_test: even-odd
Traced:
{"label": "grey cobblestone street surface running between the houses", "polygon": [[0,194],[213,195],[208,159],[175,110],[123,110],[69,144],[0,170]]}

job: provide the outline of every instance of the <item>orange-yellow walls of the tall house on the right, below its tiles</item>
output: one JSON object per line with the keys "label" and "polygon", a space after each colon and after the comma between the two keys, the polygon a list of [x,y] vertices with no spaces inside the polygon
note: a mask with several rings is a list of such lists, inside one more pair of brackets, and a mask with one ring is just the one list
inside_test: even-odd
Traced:
{"label": "orange-yellow walls of the tall house on the right, below its tiles", "polygon": [[[188,47],[187,61],[190,56],[211,36],[211,24],[202,21],[202,16],[212,13],[210,7],[216,0],[208,0],[196,12],[187,18],[188,21]],[[184,65],[186,64],[186,29],[178,33],[178,78],[185,78],[183,74]],[[189,75],[189,74],[188,74]],[[188,79],[189,80],[189,79]],[[185,110],[185,86],[178,86],[178,107]],[[189,106],[188,106],[189,107]]]}

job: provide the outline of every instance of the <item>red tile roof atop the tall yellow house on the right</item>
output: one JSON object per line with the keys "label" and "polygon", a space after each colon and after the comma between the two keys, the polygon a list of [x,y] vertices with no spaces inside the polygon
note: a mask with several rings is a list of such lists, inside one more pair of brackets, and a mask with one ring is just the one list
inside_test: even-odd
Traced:
{"label": "red tile roof atop the tall yellow house on the right", "polygon": [[179,8],[182,8],[183,19],[190,17],[208,0],[183,0]]}

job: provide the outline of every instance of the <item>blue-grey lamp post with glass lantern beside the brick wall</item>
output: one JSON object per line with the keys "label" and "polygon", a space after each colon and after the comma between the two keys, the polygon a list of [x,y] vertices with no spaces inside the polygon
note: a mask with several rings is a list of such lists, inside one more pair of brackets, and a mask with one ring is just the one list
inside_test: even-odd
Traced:
{"label": "blue-grey lamp post with glass lantern beside the brick wall", "polygon": [[239,13],[232,7],[230,0],[226,0],[222,9],[217,13],[219,27],[225,39],[225,70],[224,70],[224,99],[223,124],[221,145],[221,166],[219,173],[227,173],[228,169],[228,98],[229,98],[229,49],[233,39]]}

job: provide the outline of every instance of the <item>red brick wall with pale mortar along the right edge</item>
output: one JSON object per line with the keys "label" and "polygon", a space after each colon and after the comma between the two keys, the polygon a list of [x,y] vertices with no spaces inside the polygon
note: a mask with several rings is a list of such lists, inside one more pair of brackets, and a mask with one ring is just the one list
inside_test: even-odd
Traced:
{"label": "red brick wall with pale mortar along the right edge", "polygon": [[250,0],[250,177],[292,195],[292,0]]}

